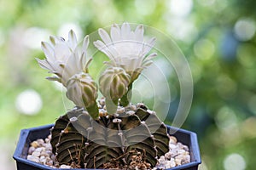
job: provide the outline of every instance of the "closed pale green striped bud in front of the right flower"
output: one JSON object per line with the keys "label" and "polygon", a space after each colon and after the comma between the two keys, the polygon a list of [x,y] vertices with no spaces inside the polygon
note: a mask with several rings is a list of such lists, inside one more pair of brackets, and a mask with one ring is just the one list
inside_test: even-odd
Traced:
{"label": "closed pale green striped bud in front of the right flower", "polygon": [[100,91],[107,99],[120,99],[128,90],[131,77],[121,67],[108,67],[100,77]]}

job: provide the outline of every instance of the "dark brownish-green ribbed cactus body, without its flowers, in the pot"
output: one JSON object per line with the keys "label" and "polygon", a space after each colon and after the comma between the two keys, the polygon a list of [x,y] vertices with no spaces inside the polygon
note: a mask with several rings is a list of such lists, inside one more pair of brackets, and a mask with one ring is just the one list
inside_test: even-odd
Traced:
{"label": "dark brownish-green ribbed cactus body, without its flowers, in the pot", "polygon": [[[129,168],[134,156],[152,168],[169,150],[166,126],[144,105],[93,120],[83,108],[61,116],[51,130],[56,160],[73,167]],[[145,120],[145,122],[144,122]]]}

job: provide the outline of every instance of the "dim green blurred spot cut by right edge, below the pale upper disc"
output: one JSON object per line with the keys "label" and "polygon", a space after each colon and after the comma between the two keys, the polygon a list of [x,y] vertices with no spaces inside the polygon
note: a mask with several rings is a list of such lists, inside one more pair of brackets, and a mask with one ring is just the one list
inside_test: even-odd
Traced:
{"label": "dim green blurred spot cut by right edge, below the pale upper disc", "polygon": [[237,49],[237,59],[241,65],[252,68],[256,65],[256,48],[253,44],[241,44]]}

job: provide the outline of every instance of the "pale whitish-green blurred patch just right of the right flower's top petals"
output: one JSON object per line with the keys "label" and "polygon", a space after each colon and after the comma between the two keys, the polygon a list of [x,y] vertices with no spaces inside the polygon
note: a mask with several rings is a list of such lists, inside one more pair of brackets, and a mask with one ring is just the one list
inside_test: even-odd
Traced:
{"label": "pale whitish-green blurred patch just right of the right flower's top petals", "polygon": [[168,31],[172,37],[175,37],[183,42],[192,42],[197,37],[198,29],[191,20],[183,20],[182,18],[166,18]]}

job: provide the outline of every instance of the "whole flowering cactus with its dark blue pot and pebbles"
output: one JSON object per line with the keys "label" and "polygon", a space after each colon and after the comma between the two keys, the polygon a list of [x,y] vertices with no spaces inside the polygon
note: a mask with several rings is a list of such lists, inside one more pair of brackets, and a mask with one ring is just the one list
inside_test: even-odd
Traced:
{"label": "whole flowering cactus with its dark blue pot and pebbles", "polygon": [[[67,41],[49,37],[49,43],[42,42],[46,59],[37,59],[38,64],[55,75],[48,77],[50,81],[67,88],[67,98],[76,107],[54,125],[21,131],[14,155],[19,170],[152,169],[166,168],[166,163],[173,169],[197,169],[201,158],[196,134],[167,126],[146,105],[130,102],[133,82],[157,55],[148,54],[155,38],[145,42],[143,31],[143,26],[131,31],[127,23],[113,25],[110,36],[99,29],[102,41],[94,45],[110,61],[105,62],[98,84],[88,69],[89,36],[84,37],[82,47],[73,31]],[[98,88],[104,96],[99,103]],[[182,151],[176,149],[177,145]]]}

